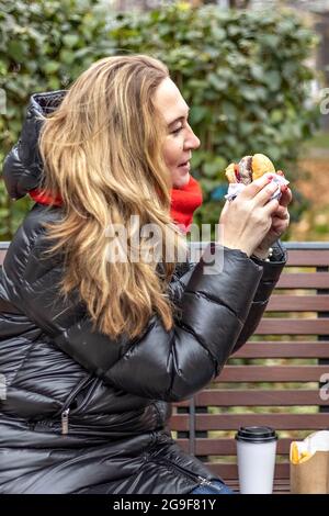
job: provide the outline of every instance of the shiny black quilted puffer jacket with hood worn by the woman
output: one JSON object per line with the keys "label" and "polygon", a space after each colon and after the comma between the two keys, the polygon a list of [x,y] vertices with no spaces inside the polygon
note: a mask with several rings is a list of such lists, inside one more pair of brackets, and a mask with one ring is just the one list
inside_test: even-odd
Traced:
{"label": "shiny black quilted puffer jacket with hood worn by the woman", "polygon": [[[42,178],[39,112],[61,92],[32,98],[21,139],[7,158],[9,193]],[[154,317],[140,338],[93,333],[84,305],[58,293],[61,259],[42,259],[43,224],[60,207],[35,204],[0,276],[0,493],[72,493],[107,483],[111,493],[189,493],[213,475],[166,430],[169,402],[205,386],[254,330],[284,257],[264,268],[224,250],[224,268],[178,267],[171,295],[181,317],[166,332]],[[215,253],[220,253],[217,247]],[[279,257],[280,258],[280,257]],[[213,271],[214,272],[214,271]]]}

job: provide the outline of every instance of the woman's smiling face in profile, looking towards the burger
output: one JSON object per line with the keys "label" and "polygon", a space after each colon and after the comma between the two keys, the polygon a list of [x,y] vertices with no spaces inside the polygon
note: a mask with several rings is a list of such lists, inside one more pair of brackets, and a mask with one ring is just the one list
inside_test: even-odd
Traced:
{"label": "woman's smiling face in profile, looking towards the burger", "polygon": [[180,90],[167,78],[158,86],[155,105],[166,120],[168,133],[163,145],[164,161],[170,170],[172,184],[181,188],[190,181],[192,150],[200,146],[188,123],[189,106]]}

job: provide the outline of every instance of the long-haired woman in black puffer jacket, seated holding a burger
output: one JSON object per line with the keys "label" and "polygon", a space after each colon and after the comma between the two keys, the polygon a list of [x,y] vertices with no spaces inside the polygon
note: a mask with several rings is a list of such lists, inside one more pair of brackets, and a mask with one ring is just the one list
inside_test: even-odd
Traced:
{"label": "long-haired woman in black puffer jacket, seated holding a burger", "polygon": [[[147,56],[101,59],[67,92],[32,97],[4,165],[10,195],[36,203],[0,281],[0,493],[229,491],[170,438],[169,403],[205,386],[257,327],[285,262],[275,240],[291,193],[271,200],[263,177],[225,206],[212,274],[206,257],[167,262],[181,246],[170,204],[185,226],[200,204],[198,145],[166,66]],[[110,259],[109,232],[124,227],[132,250],[137,215],[166,235],[161,259]]]}

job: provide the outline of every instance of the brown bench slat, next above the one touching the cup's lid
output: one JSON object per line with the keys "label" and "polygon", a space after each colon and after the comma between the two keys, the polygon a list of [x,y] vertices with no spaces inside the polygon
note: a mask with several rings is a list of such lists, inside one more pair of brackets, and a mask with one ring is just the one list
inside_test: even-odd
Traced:
{"label": "brown bench slat, next above the one touching the cup's lid", "polygon": [[[329,377],[329,375],[328,375]],[[297,406],[328,405],[329,400],[321,400],[319,390],[216,390],[208,389],[195,395],[195,406]],[[189,406],[189,401],[180,406]]]}

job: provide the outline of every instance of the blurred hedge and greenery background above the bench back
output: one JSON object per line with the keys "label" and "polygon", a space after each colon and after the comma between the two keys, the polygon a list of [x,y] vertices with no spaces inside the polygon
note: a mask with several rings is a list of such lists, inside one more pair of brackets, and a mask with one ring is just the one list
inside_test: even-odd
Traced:
{"label": "blurred hedge and greenery background above the bench back", "polygon": [[[327,240],[328,48],[329,1],[0,0],[0,168],[31,94],[68,88],[103,56],[145,53],[168,65],[202,142],[196,222],[217,222],[225,167],[263,153],[292,182],[286,238]],[[31,206],[0,177],[0,240]]]}

